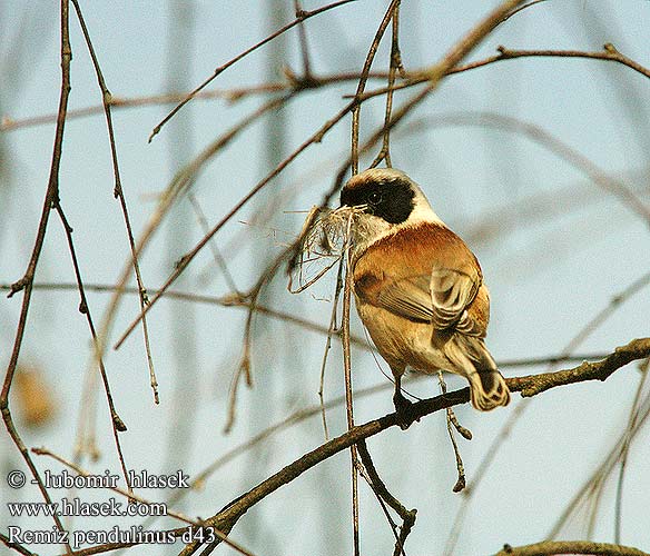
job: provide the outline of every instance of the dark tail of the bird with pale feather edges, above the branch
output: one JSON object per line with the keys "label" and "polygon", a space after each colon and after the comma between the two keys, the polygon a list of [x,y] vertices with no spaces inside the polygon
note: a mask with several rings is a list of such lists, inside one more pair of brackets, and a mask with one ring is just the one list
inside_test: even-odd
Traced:
{"label": "dark tail of the bird with pale feather edges, above the branch", "polygon": [[472,336],[456,338],[447,356],[452,361],[461,364],[463,375],[470,381],[472,405],[480,411],[506,406],[510,403],[510,390],[483,339]]}

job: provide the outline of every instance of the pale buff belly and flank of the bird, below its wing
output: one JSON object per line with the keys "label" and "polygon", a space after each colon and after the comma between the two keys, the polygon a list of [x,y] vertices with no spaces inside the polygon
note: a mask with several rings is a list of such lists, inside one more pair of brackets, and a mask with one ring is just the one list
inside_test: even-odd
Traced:
{"label": "pale buff belly and flank of the bird, below its wing", "polygon": [[432,344],[432,327],[414,322],[385,309],[360,302],[358,315],[381,356],[393,374],[402,375],[406,366],[420,373],[433,374],[450,369],[450,360]]}

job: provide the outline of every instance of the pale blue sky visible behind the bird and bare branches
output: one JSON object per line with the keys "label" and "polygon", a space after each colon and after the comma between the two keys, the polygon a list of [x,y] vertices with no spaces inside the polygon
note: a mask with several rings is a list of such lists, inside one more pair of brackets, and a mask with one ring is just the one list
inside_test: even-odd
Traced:
{"label": "pale blue sky visible behind the bird and bare branches", "polygon": [[[187,66],[188,88],[262,39],[269,29],[265,19],[267,2],[221,0],[193,4],[195,17],[189,47],[193,56],[179,61]],[[284,20],[288,21],[293,2],[286,4]],[[308,21],[314,71],[326,75],[361,68],[385,4],[360,0]],[[305,9],[318,6],[322,2],[304,2]],[[111,92],[116,97],[164,92],[169,67],[168,2],[82,2],[82,9]],[[404,1],[401,47],[406,68],[417,69],[439,60],[486,10],[487,2]],[[648,29],[650,3],[647,1],[550,0],[500,26],[471,58],[490,56],[499,44],[599,50],[604,42],[612,42],[630,58],[650,67]],[[21,39],[23,48],[12,50]],[[97,105],[100,95],[73,14],[71,41],[70,108]],[[60,80],[58,44],[57,2],[2,2],[0,69],[9,78],[3,77],[0,85],[0,117],[19,120],[56,111]],[[286,54],[282,61],[274,62],[277,69],[288,62],[295,71],[299,70],[297,44],[296,30],[287,33]],[[381,70],[386,67],[386,52],[383,44],[376,62]],[[208,90],[264,82],[269,63],[269,49],[262,49],[224,72]],[[274,156],[292,152],[347,101],[342,96],[354,88],[348,82],[311,91],[294,100],[283,111],[286,136],[276,145]],[[397,95],[396,102],[401,103],[410,95]],[[560,353],[612,296],[648,271],[648,226],[543,146],[503,130],[435,127],[434,119],[490,111],[540,126],[588,157],[608,176],[622,180],[650,206],[649,95],[647,78],[608,62],[510,60],[445,80],[395,131],[394,166],[422,185],[436,212],[450,227],[464,237],[470,237],[483,224],[494,230],[491,236],[471,236],[470,244],[492,294],[487,344],[498,360]],[[178,117],[191,130],[189,136],[181,128],[169,126],[150,145],[147,137],[169,107],[115,110],[122,182],[137,231],[144,229],[155,208],[154,196],[164,190],[173,173],[259,102],[257,97],[234,105],[224,100],[197,100]],[[362,116],[364,132],[372,132],[381,125],[383,103],[368,103]],[[410,128],[420,118],[432,123],[430,130]],[[284,178],[269,185],[268,196],[280,199],[272,218],[252,222],[259,209],[259,205],[253,203],[219,232],[217,245],[226,249],[242,289],[259,275],[259,257],[279,252],[284,242],[299,231],[302,216],[284,211],[308,209],[331,187],[339,161],[347,156],[348,129],[346,120],[322,143],[299,157]],[[254,126],[201,171],[194,192],[210,225],[270,171],[266,137],[264,125]],[[52,140],[51,125],[0,133],[1,284],[17,280],[24,271],[46,190]],[[170,157],[170,150],[179,153],[178,157]],[[546,196],[548,201],[533,218],[526,209],[541,196]],[[121,214],[112,198],[112,171],[101,115],[73,119],[67,125],[61,201],[75,228],[85,280],[112,282],[128,257],[128,245]],[[141,260],[145,282],[150,288],[160,285],[171,271],[173,261],[201,237],[187,199],[181,205],[171,217],[174,225],[156,236]],[[503,216],[499,216],[503,211],[510,218],[520,217],[520,226],[508,229]],[[170,236],[180,236],[180,245],[170,244]],[[236,242],[230,244],[232,240]],[[227,284],[211,260],[207,251],[201,254],[189,267],[183,288],[200,294],[227,294]],[[72,279],[65,237],[52,215],[37,281],[70,282]],[[286,292],[280,276],[267,302],[326,325],[331,305],[322,298],[331,298],[332,288],[331,277],[313,292],[294,297]],[[21,296],[16,296],[0,302],[0,367],[3,369],[13,342],[20,299]],[[108,296],[89,294],[89,301],[99,322]],[[22,348],[26,361],[43,368],[60,413],[50,428],[38,431],[22,428],[21,434],[29,446],[43,445],[66,457],[72,453],[81,385],[91,355],[87,325],[77,305],[73,292],[35,291]],[[107,357],[116,404],[129,427],[121,440],[130,467],[162,471],[166,465],[180,461],[178,465],[191,476],[268,424],[295,409],[317,404],[324,338],[275,322],[265,328],[263,325],[268,321],[258,317],[254,340],[255,388],[242,388],[239,420],[233,434],[223,436],[227,391],[240,354],[245,312],[214,306],[196,306],[190,310],[187,304],[176,302],[177,312],[171,312],[171,305],[161,301],[151,310],[149,319],[160,383],[159,407],[151,403],[139,332],[122,349]],[[649,306],[650,292],[643,289],[597,329],[579,351],[608,353],[634,337],[648,336]],[[121,331],[137,310],[137,300],[128,298],[122,304],[116,330]],[[186,317],[196,325],[196,364],[191,365],[191,371],[181,369],[179,376],[187,391],[180,389],[180,397],[175,398],[174,353],[179,344],[174,326],[179,322],[185,326]],[[358,321],[354,327],[357,334],[363,334]],[[181,338],[180,344],[184,341]],[[339,357],[336,347],[328,367],[327,398],[343,391]],[[361,351],[355,351],[354,357],[356,387],[386,381],[372,357]],[[386,370],[387,366],[382,365]],[[515,376],[538,370],[543,368],[509,368],[504,374]],[[186,383],[184,376],[188,377]],[[476,492],[456,554],[482,555],[496,552],[503,543],[514,546],[541,540],[623,430],[637,385],[638,373],[630,366],[605,384],[561,388],[532,400]],[[464,386],[462,379],[450,379],[450,387],[461,386]],[[413,390],[431,396],[437,393],[437,386],[429,379],[413,386]],[[85,465],[99,470],[108,467],[117,473],[101,394],[98,399],[102,459],[97,464],[85,461]],[[514,396],[508,409],[489,415],[479,415],[469,406],[457,409],[461,421],[474,433],[472,443],[461,444],[470,484],[491,440],[519,404],[521,398]],[[360,423],[384,415],[392,408],[391,395],[386,390],[358,400],[355,408]],[[186,439],[188,447],[180,455],[169,453],[168,444],[175,444],[169,438],[174,438],[170,429],[176,427],[176,417],[190,409],[195,415],[190,423],[193,437]],[[333,409],[329,420],[332,434],[342,433],[343,408]],[[6,436],[0,443],[2,465],[21,468],[23,464]],[[317,419],[273,437],[253,456],[240,457],[223,468],[203,492],[194,494],[179,508],[189,515],[211,515],[322,439]],[[650,492],[647,439],[647,433],[642,431],[630,454],[622,537],[623,544],[646,549],[650,547],[643,513]],[[388,430],[368,446],[388,487],[407,507],[418,508],[406,554],[443,554],[461,496],[451,493],[455,469],[442,415],[430,416],[406,433]],[[37,463],[41,469],[57,468],[42,458]],[[234,529],[233,538],[256,555],[349,554],[348,480],[348,456],[339,455],[250,510]],[[7,495],[6,489],[0,492],[3,497]],[[366,554],[386,554],[392,550],[392,534],[364,485],[362,492],[362,546]],[[165,494],[144,493],[151,498]],[[612,494],[613,486],[605,490],[603,513],[597,522],[599,540],[612,540]],[[26,490],[23,495],[26,499],[38,499],[36,492]],[[80,496],[107,498],[106,493]],[[6,515],[3,508],[0,515]],[[105,522],[90,518],[78,519],[75,525],[106,527]],[[577,526],[568,536],[581,537],[583,532]],[[219,553],[227,552],[225,547],[219,548]],[[160,549],[162,553],[174,554]],[[45,550],[43,554],[55,553]],[[150,553],[141,548],[131,554]]]}

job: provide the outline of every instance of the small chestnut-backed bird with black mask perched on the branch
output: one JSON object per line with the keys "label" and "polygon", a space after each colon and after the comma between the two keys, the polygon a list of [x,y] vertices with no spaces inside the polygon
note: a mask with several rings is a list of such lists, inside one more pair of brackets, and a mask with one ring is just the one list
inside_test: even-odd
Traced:
{"label": "small chestnut-backed bird with black mask perched on the branch", "polygon": [[485,346],[490,294],[481,266],[420,186],[401,170],[371,168],[345,183],[344,207],[355,209],[348,271],[356,309],[391,367],[397,414],[411,405],[401,387],[406,368],[465,377],[481,411],[506,406],[510,390]]}

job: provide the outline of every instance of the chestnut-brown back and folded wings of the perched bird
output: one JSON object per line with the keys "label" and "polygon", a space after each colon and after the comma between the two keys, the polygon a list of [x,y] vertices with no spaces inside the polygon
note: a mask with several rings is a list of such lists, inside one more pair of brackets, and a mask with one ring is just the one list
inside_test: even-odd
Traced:
{"label": "chestnut-brown back and folded wings of the perched bird", "polygon": [[404,228],[381,239],[354,267],[355,291],[366,302],[432,322],[439,330],[455,327],[471,336],[484,336],[487,325],[490,300],[482,279],[464,241],[436,224]]}

